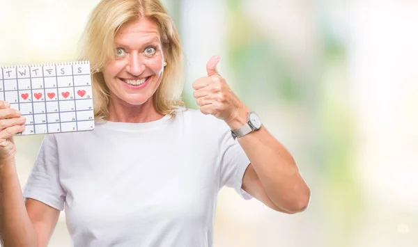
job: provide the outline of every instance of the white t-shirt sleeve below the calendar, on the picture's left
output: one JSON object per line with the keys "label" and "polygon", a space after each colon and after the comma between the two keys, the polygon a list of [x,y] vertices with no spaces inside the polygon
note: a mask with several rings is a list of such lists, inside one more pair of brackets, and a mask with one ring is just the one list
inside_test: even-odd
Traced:
{"label": "white t-shirt sleeve below the calendar, on the picture's left", "polygon": [[65,191],[59,180],[59,159],[56,139],[53,134],[45,135],[38,157],[23,189],[24,198],[39,200],[51,207],[64,208]]}

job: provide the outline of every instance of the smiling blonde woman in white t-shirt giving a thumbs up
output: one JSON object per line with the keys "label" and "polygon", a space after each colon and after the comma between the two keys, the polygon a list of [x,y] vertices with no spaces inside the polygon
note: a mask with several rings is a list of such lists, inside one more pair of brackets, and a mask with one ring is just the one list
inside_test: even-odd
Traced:
{"label": "smiling blonde woman in white t-shirt giving a thumbs up", "polygon": [[217,73],[219,57],[193,83],[200,111],[183,106],[178,37],[158,0],[98,4],[81,57],[97,124],[45,136],[23,193],[13,135],[25,120],[0,102],[4,246],[47,246],[63,209],[74,246],[212,246],[222,186],[279,212],[307,207],[293,157]]}

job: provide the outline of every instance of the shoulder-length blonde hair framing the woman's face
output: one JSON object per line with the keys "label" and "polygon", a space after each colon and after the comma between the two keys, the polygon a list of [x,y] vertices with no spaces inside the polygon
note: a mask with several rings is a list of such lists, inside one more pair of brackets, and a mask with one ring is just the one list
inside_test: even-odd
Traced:
{"label": "shoulder-length blonde hair framing the woman's face", "polygon": [[181,99],[183,49],[180,35],[162,3],[159,0],[102,0],[88,19],[79,51],[79,59],[88,60],[91,64],[96,120],[104,120],[109,113],[109,88],[100,70],[109,60],[114,59],[114,37],[123,24],[141,17],[148,17],[159,27],[167,62],[160,86],[153,95],[154,107],[163,115],[176,115],[176,109],[185,106]]}

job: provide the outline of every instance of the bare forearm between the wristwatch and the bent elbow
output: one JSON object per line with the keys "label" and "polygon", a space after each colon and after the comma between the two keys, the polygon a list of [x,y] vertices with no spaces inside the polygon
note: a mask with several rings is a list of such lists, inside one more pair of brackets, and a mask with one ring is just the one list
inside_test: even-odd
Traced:
{"label": "bare forearm between the wristwatch and the bent elbow", "polygon": [[300,212],[309,202],[310,190],[292,155],[265,127],[239,138],[265,193],[288,212]]}

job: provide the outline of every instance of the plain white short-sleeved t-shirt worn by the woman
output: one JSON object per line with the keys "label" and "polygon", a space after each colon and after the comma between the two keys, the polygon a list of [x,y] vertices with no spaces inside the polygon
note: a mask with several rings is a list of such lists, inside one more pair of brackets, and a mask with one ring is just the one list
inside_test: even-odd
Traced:
{"label": "plain white short-sleeved t-shirt worn by the woman", "polygon": [[248,165],[224,121],[189,109],[45,136],[23,194],[65,209],[73,246],[212,246],[217,193],[250,199]]}

